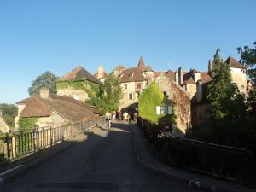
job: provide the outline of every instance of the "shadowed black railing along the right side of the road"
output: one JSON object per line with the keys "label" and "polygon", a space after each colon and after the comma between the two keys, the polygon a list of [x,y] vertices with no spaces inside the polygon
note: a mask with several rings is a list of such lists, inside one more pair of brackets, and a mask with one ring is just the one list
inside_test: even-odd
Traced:
{"label": "shadowed black railing along the right side of the road", "polygon": [[232,180],[242,180],[252,167],[253,153],[247,149],[166,137],[143,119],[137,119],[137,125],[154,152],[172,166]]}

